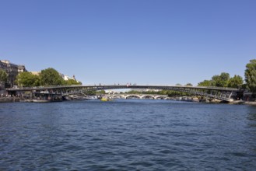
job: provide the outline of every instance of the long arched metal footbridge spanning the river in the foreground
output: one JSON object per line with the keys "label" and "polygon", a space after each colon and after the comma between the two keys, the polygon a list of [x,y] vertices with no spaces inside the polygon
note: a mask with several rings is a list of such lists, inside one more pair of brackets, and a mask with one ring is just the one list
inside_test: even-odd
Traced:
{"label": "long arched metal footbridge spanning the river in the foreground", "polygon": [[163,89],[173,90],[177,92],[188,92],[196,96],[206,96],[212,99],[223,101],[232,101],[241,98],[243,90],[226,87],[205,87],[205,86],[137,86],[137,85],[99,85],[99,86],[40,86],[40,87],[23,87],[6,89],[9,94],[16,95],[19,92],[48,92],[51,94],[60,94],[61,96],[69,96],[73,94],[83,93],[107,89]]}

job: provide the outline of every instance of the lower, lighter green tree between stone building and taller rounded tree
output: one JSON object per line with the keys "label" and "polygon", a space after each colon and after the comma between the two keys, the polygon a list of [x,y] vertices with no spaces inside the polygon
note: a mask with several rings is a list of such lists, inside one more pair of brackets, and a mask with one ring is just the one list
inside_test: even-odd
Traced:
{"label": "lower, lighter green tree between stone building and taller rounded tree", "polygon": [[17,75],[16,84],[18,86],[40,86],[40,78],[37,75],[33,75],[31,72],[22,72]]}

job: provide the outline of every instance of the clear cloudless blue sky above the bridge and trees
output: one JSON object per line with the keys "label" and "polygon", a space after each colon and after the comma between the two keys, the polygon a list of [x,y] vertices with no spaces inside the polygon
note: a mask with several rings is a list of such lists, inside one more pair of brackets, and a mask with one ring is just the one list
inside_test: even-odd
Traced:
{"label": "clear cloudless blue sky above the bridge and trees", "polygon": [[85,85],[244,77],[255,9],[254,0],[0,0],[0,59]]}

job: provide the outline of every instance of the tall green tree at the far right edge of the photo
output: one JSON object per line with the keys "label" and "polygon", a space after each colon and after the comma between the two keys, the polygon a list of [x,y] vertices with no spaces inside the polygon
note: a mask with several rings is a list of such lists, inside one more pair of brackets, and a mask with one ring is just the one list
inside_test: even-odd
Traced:
{"label": "tall green tree at the far right edge of the photo", "polygon": [[247,84],[247,89],[249,89],[251,92],[256,92],[256,59],[250,60],[250,62],[246,65],[244,77]]}

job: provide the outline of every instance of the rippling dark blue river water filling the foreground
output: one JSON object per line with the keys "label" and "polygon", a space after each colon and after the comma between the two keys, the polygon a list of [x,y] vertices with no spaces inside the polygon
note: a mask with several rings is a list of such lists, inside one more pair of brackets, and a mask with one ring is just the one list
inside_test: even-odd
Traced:
{"label": "rippling dark blue river water filling the foreground", "polygon": [[0,103],[0,170],[254,170],[256,107]]}

